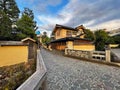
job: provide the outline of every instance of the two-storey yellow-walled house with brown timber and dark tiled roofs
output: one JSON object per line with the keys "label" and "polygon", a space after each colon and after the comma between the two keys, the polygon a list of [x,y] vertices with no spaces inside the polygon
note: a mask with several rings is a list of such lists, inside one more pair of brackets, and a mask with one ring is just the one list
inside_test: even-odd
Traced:
{"label": "two-storey yellow-walled house with brown timber and dark tiled roofs", "polygon": [[84,39],[85,28],[81,25],[71,28],[63,25],[56,25],[52,32],[52,49],[65,50],[65,48],[74,50],[95,50],[95,46],[90,40]]}

